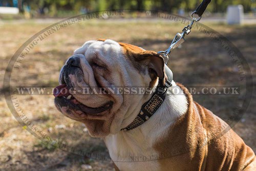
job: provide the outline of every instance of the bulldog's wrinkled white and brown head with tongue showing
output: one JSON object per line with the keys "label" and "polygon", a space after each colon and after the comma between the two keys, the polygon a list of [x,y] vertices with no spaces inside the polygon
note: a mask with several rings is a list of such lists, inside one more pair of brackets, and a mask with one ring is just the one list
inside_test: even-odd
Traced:
{"label": "bulldog's wrinkled white and brown head with tongue showing", "polygon": [[104,137],[129,125],[151,97],[115,88],[152,88],[158,78],[167,79],[156,52],[109,39],[87,41],[62,67],[54,101],[62,114],[86,124],[91,136]]}

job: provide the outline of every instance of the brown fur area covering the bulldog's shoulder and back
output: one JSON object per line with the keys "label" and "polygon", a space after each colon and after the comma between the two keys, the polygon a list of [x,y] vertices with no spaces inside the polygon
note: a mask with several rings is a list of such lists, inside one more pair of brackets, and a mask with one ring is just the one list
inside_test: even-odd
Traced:
{"label": "brown fur area covering the bulldog's shoulder and back", "polygon": [[187,96],[188,110],[155,143],[154,148],[168,156],[159,160],[160,170],[255,170],[252,149],[226,122],[193,101],[182,84],[177,85]]}

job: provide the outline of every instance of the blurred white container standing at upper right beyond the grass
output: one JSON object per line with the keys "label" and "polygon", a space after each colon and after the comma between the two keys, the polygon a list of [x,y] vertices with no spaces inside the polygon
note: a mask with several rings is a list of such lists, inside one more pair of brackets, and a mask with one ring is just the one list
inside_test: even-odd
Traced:
{"label": "blurred white container standing at upper right beyond the grass", "polygon": [[230,5],[227,7],[227,24],[242,24],[244,19],[244,7],[242,5]]}

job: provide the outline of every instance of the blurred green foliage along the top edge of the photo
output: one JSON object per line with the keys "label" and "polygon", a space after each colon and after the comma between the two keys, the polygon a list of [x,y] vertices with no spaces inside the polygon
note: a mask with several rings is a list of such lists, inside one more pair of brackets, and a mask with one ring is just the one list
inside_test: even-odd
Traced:
{"label": "blurred green foliage along the top edge of the photo", "polygon": [[[137,10],[161,10],[173,12],[180,8],[185,11],[194,10],[201,0],[24,0],[24,4],[31,6],[31,9],[48,8],[50,15],[56,15],[56,10],[69,10],[79,12],[82,8],[87,11],[102,11],[106,9],[137,9]],[[211,1],[207,10],[210,12],[225,12],[228,5],[244,6],[245,12],[255,7],[254,0],[214,0]]]}

